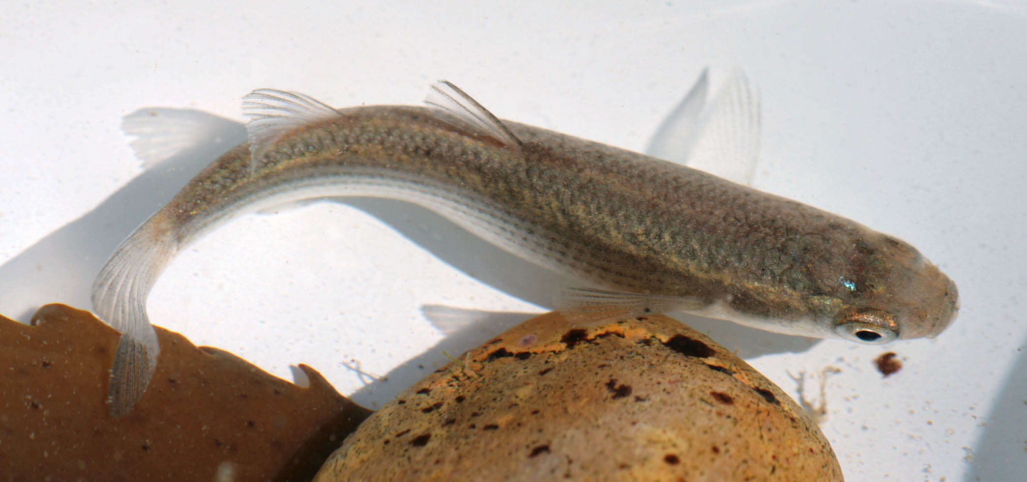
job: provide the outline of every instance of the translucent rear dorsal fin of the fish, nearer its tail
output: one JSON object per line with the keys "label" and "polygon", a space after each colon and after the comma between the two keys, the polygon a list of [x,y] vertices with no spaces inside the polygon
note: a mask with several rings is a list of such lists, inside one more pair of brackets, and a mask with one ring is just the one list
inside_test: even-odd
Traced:
{"label": "translucent rear dorsal fin of the fish, nearer its tail", "polygon": [[335,109],[309,95],[261,88],[242,97],[242,113],[250,117],[250,171],[264,157],[267,148],[289,131],[339,115]]}

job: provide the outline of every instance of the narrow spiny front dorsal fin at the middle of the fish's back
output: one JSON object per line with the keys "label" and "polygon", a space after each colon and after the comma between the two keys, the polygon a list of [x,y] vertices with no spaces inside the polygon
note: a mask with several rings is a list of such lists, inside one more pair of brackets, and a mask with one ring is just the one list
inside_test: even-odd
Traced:
{"label": "narrow spiny front dorsal fin at the middle of the fish's back", "polygon": [[424,103],[447,122],[488,135],[507,148],[520,149],[521,140],[491,112],[456,85],[440,80],[431,84]]}

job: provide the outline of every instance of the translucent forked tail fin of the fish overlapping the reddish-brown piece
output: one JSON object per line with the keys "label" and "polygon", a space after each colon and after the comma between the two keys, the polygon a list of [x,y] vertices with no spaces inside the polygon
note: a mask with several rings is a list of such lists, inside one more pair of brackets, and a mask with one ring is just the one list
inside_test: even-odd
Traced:
{"label": "translucent forked tail fin of the fish overlapping the reddish-brown piece", "polygon": [[150,289],[175,253],[160,213],[125,239],[92,283],[100,319],[121,332],[108,389],[112,416],[124,415],[146,391],[157,367],[160,345],[146,314]]}

